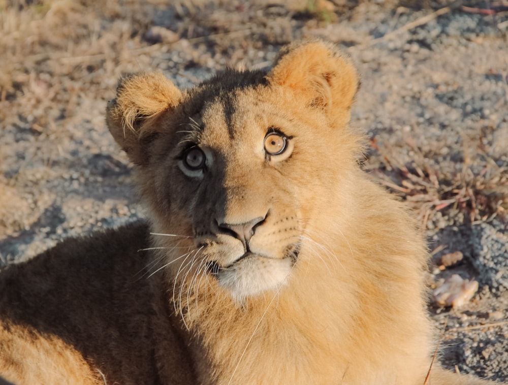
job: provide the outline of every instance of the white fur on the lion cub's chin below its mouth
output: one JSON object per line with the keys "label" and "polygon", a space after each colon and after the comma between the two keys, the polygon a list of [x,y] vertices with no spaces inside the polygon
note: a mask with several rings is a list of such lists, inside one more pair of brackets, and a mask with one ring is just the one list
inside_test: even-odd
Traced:
{"label": "white fur on the lion cub's chin below its mouth", "polygon": [[259,256],[245,258],[233,266],[220,269],[218,282],[231,292],[231,296],[243,302],[244,298],[274,290],[286,282],[291,273],[291,258],[270,259]]}

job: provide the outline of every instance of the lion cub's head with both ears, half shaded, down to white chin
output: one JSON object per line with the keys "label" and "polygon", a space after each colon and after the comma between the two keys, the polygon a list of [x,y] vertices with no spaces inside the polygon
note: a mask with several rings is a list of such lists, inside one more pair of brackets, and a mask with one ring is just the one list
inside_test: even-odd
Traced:
{"label": "lion cub's head with both ears, half shaded, down to white chin", "polygon": [[[305,50],[330,62],[288,73]],[[123,106],[142,98],[126,94],[160,82],[167,89],[152,99],[161,106],[138,106],[131,119]],[[322,43],[289,49],[269,74],[228,71],[183,93],[157,75],[120,84],[108,124],[139,165],[174,276],[214,281],[240,300],[287,282],[353,163],[357,138],[346,124],[356,87],[350,63]],[[124,134],[125,123],[134,131]]]}

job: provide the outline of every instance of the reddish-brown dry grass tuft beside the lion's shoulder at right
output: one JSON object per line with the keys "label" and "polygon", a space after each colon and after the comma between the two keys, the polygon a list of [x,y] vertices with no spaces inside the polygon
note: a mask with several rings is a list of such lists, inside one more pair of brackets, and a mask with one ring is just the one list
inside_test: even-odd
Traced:
{"label": "reddish-brown dry grass tuft beside the lion's shoulder at right", "polygon": [[[465,220],[489,221],[495,216],[506,219],[508,213],[508,167],[498,166],[488,149],[463,146],[457,161],[437,161],[437,156],[422,153],[412,141],[406,141],[414,161],[403,163],[398,151],[370,145],[381,155],[373,173],[419,212],[424,224],[436,211],[464,213]],[[457,158],[457,156],[455,156]],[[448,212],[450,215],[450,212]],[[453,214],[452,214],[453,215]]]}

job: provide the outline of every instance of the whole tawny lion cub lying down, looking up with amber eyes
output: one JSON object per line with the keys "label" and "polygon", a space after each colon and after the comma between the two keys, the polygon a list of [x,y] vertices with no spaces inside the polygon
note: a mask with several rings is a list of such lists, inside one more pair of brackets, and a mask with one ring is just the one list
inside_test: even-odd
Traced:
{"label": "whole tawny lion cub lying down, looking up with amber eyes", "polygon": [[2,272],[17,384],[483,383],[431,366],[426,247],[359,169],[359,85],[332,45],[189,90],[123,78],[111,134],[150,227],[70,239]]}

